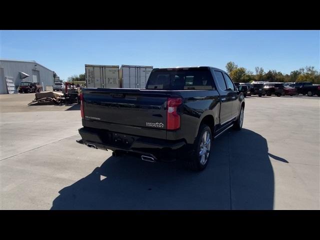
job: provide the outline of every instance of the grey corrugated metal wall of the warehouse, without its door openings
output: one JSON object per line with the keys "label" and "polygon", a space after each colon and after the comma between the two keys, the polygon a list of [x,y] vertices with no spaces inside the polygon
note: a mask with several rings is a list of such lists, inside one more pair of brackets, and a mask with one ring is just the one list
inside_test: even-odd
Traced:
{"label": "grey corrugated metal wall of the warehouse, without its door openings", "polygon": [[[20,85],[21,80],[23,81],[33,81],[32,78],[32,70],[38,71],[38,76],[40,79],[37,79],[43,85],[53,85],[53,71],[39,65],[37,62],[24,62],[24,61],[11,61],[11,60],[0,60],[0,67],[4,69],[4,77],[13,77],[14,85]],[[20,78],[20,71],[28,74],[29,76],[21,79]],[[2,81],[2,77],[1,77]],[[4,83],[5,85],[5,83]],[[0,86],[3,86],[2,82]],[[6,89],[0,89],[0,94],[7,93]]]}

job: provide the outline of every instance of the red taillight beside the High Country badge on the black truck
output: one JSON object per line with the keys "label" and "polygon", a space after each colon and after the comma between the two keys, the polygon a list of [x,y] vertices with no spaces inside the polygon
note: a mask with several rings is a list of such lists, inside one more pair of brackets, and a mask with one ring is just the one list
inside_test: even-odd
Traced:
{"label": "red taillight beside the High Country badge on the black truck", "polygon": [[181,105],[180,97],[169,97],[166,105],[166,129],[174,130],[180,127],[180,115],[177,113],[177,107]]}

